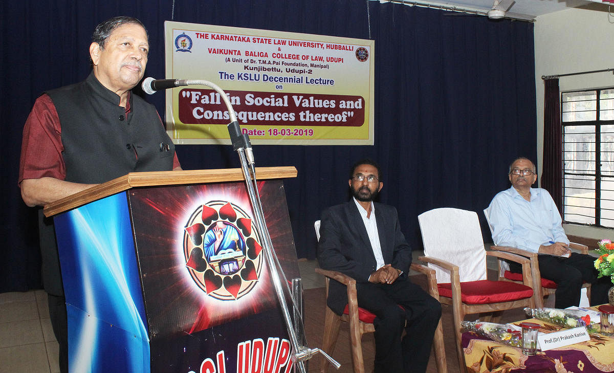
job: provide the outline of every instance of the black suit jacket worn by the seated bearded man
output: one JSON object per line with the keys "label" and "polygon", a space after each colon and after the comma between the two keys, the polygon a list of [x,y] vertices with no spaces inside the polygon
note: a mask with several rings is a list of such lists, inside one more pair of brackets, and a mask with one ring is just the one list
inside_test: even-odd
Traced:
{"label": "black suit jacket worn by the seated bearded man", "polygon": [[[406,277],[411,265],[411,247],[401,233],[397,209],[375,202],[374,206],[384,264],[392,264]],[[375,255],[354,199],[324,210],[320,224],[317,244],[320,267],[339,271],[356,282],[368,282],[376,270]],[[330,281],[327,304],[338,314],[348,304],[346,291],[340,282]]]}

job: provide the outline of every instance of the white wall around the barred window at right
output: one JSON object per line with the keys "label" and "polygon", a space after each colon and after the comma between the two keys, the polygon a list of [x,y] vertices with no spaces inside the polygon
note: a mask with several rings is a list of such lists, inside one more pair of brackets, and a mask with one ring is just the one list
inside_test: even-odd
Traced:
{"label": "white wall around the barred window at right", "polygon": [[[614,7],[613,7],[614,8]],[[613,9],[614,12],[614,9]],[[567,9],[537,17],[535,36],[535,93],[537,95],[537,161],[542,169],[543,94],[542,75],[568,74],[614,67],[614,14],[587,9]],[[561,77],[561,91],[614,87],[614,74]],[[567,234],[614,239],[614,229],[564,225]]]}

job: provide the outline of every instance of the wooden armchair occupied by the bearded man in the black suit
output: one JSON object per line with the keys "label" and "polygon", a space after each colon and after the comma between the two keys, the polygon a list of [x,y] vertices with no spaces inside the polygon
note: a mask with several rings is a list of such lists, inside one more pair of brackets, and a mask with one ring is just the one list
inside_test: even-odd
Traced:
{"label": "wooden armchair occupied by the bearded man in the black suit", "polygon": [[[411,264],[411,269],[417,272],[421,272],[427,275],[427,281],[429,286],[429,294],[438,299],[437,284],[435,283],[435,271],[429,269],[426,266],[420,264]],[[339,336],[339,328],[341,321],[349,323],[349,337],[352,351],[352,364],[354,365],[355,373],[364,373],[365,364],[362,357],[362,334],[373,333],[375,327],[373,326],[373,320],[375,315],[367,310],[358,306],[356,299],[356,280],[352,279],[348,275],[344,275],[341,272],[327,271],[325,269],[316,268],[316,272],[326,277],[326,298],[328,299],[328,282],[330,279],[343,283],[348,288],[348,305],[346,306],[343,315],[339,316],[333,310],[326,307],[325,319],[324,319],[324,336],[322,337],[322,350],[332,355],[335,349],[337,337]],[[441,328],[441,320],[435,330],[435,337],[433,338],[433,350],[435,352],[435,363],[437,364],[437,371],[440,373],[446,373],[448,367],[446,364],[446,354],[443,345],[443,331]],[[328,369],[328,360],[322,358],[322,367],[320,371],[325,373]]]}

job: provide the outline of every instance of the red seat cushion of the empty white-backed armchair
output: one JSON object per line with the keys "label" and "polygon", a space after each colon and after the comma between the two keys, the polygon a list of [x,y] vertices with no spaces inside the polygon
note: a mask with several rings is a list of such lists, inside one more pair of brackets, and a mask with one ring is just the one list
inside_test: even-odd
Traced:
{"label": "red seat cushion of the empty white-backed armchair", "polygon": [[[441,296],[452,298],[450,283],[438,283],[437,288]],[[461,282],[461,301],[467,304],[510,302],[531,296],[533,289],[521,283],[490,280]]]}

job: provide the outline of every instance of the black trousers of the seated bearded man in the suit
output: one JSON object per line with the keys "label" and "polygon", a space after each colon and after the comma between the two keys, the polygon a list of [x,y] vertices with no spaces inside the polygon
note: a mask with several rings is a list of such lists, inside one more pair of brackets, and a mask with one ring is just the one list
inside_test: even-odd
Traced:
{"label": "black trousers of the seated bearded man in the suit", "polygon": [[[357,283],[356,290],[358,306],[377,316],[373,321],[375,372],[424,373],[441,304],[405,278],[390,285]],[[406,336],[402,340],[404,326]]]}

